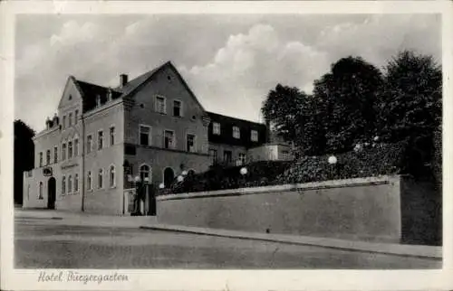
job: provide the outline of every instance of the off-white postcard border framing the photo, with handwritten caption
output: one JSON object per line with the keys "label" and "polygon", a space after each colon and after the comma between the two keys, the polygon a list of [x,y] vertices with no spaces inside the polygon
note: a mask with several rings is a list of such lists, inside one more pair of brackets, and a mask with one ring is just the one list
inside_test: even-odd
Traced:
{"label": "off-white postcard border framing the photo, with handwritten caption", "polygon": [[[69,2],[16,1],[1,3],[0,28],[2,106],[0,109],[1,184],[1,280],[2,288],[14,290],[279,290],[279,289],[380,289],[425,290],[452,287],[453,158],[452,148],[452,5],[449,1],[382,2]],[[38,283],[41,270],[13,268],[13,120],[14,120],[14,15],[15,14],[442,14],[443,42],[443,225],[444,265],[440,270],[75,270],[83,274],[129,276],[128,282]],[[389,32],[391,33],[391,32]],[[59,272],[61,270],[45,270]],[[66,270],[63,270],[66,272]]]}

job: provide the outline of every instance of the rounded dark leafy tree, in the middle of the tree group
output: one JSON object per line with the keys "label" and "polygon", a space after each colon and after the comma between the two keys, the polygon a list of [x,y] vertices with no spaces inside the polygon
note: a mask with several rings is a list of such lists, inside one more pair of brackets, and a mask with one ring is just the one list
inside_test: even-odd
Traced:
{"label": "rounded dark leafy tree, in the middle of the tree group", "polygon": [[375,101],[381,71],[361,57],[333,63],[331,71],[314,81],[313,98],[322,112],[326,151],[345,152],[376,134]]}

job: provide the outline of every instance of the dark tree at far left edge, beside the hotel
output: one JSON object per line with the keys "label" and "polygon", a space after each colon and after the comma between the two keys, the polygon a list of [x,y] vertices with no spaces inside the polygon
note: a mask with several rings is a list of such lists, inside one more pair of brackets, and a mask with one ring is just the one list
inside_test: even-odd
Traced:
{"label": "dark tree at far left edge, beside the hotel", "polygon": [[24,171],[34,168],[34,130],[24,121],[14,120],[14,203],[22,204]]}

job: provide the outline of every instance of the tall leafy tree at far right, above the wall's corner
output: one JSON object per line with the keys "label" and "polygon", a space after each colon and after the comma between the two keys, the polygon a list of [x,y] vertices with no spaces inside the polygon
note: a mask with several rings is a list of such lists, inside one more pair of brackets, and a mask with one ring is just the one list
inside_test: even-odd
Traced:
{"label": "tall leafy tree at far right, above the wall's corner", "polygon": [[390,143],[407,143],[405,172],[429,174],[434,131],[442,110],[442,70],[431,56],[403,51],[385,68],[379,129]]}

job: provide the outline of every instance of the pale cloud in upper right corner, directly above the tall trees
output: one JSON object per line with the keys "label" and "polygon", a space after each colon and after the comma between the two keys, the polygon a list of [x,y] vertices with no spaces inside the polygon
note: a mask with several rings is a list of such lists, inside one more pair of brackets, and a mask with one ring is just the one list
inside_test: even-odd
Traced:
{"label": "pale cloud in upper right corner, directly above the tall trees", "polygon": [[336,23],[324,28],[316,47],[328,52],[333,61],[354,55],[380,67],[404,49],[440,60],[439,28],[439,17],[432,14],[373,14],[361,23]]}

